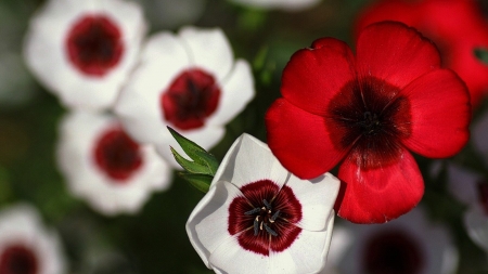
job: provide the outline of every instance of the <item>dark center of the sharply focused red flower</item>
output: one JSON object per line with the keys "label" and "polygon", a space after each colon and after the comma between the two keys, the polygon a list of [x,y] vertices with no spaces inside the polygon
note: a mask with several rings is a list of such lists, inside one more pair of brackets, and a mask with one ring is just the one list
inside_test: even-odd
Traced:
{"label": "dark center of the sharply focused red flower", "polygon": [[351,147],[351,157],[363,169],[394,164],[401,154],[401,139],[410,135],[410,104],[399,89],[368,77],[350,81],[330,103],[326,122],[341,149]]}

